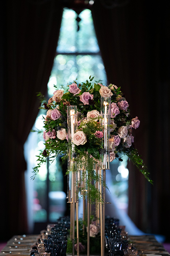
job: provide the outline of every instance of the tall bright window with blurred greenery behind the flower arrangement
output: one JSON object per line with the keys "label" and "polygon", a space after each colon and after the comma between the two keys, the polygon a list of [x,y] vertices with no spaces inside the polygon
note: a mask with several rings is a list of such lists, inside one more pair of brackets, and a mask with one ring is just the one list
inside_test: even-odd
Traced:
{"label": "tall bright window with blurred greenery behind the flower arrangement", "polygon": [[[106,73],[98,47],[91,11],[85,9],[79,15],[72,9],[64,9],[60,29],[56,56],[48,82],[48,95],[50,98],[55,91],[53,85],[58,89],[61,85],[67,86],[68,82],[84,82],[89,76],[95,76],[95,81],[107,84]],[[46,111],[40,110],[36,118],[33,130],[42,130],[42,115]],[[28,194],[28,221],[30,231],[33,232],[33,223],[40,230],[40,224],[55,222],[56,219],[66,213],[66,194],[63,192],[63,173],[60,167],[60,157],[54,162],[41,166],[34,181],[30,181],[32,168],[36,166],[36,155],[44,148],[42,133],[30,133],[25,144],[25,157],[28,163],[27,171],[27,194]],[[114,166],[116,166],[114,168]],[[118,162],[112,164],[113,184],[120,197],[121,191],[126,190],[127,174],[123,177],[123,167]],[[126,167],[126,166],[125,166]],[[67,167],[66,167],[67,169]],[[126,168],[124,168],[126,169]],[[65,170],[66,171],[66,170]],[[118,172],[119,171],[119,172]],[[127,172],[127,170],[126,170]],[[125,175],[125,172],[124,172]],[[119,185],[118,185],[119,183]],[[126,201],[127,196],[121,199]],[[39,224],[39,225],[38,225]],[[36,232],[36,229],[34,230]]]}

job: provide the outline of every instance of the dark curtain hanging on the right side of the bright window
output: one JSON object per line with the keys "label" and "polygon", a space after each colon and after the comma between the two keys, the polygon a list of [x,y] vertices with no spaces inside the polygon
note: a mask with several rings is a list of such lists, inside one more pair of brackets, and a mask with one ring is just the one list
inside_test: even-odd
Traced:
{"label": "dark curtain hanging on the right side of the bright window", "polygon": [[109,2],[96,0],[92,8],[108,83],[121,86],[132,117],[141,120],[135,147],[154,181],[129,164],[129,215],[141,230],[170,240],[170,2]]}

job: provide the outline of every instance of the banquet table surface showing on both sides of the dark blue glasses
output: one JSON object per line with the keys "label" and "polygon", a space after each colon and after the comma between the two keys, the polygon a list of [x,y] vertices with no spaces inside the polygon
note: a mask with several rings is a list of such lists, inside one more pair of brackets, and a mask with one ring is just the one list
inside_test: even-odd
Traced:
{"label": "banquet table surface showing on both sides of the dark blue glasses", "polygon": [[[1,250],[0,256],[30,256],[30,250],[38,242],[40,235],[15,235]],[[141,256],[169,256],[169,252],[159,243],[154,235],[141,235],[128,237],[132,246],[138,249]],[[107,253],[106,253],[107,255]]]}

